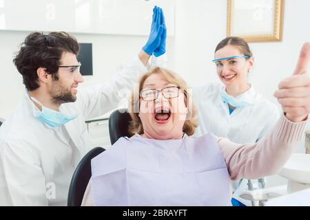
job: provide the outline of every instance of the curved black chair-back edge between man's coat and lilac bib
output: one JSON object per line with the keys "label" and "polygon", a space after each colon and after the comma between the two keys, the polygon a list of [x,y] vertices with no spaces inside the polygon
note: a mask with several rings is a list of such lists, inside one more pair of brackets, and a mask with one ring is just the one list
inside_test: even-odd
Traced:
{"label": "curved black chair-back edge between man's coat and lilac bib", "polygon": [[83,201],[84,192],[87,188],[87,184],[92,176],[92,168],[90,166],[90,161],[92,158],[96,157],[105,151],[105,148],[95,147],[90,150],[79,162],[78,166],[74,170],[70,188],[68,192],[68,206],[81,206]]}

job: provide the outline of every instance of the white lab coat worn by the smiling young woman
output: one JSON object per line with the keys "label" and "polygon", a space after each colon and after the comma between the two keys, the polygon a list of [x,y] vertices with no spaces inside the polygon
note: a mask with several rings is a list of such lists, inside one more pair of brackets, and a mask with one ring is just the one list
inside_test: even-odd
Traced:
{"label": "white lab coat worn by the smiling young woman", "polygon": [[[236,108],[230,115],[228,104],[220,97],[220,91],[224,85],[208,83],[203,87],[193,88],[194,104],[198,108],[197,137],[205,133],[213,133],[218,137],[228,137],[238,144],[255,143],[264,137],[276,124],[280,117],[275,104],[263,98],[253,86],[245,93],[236,96],[238,100],[251,103],[247,107]],[[258,181],[251,180],[254,188],[258,188]],[[233,197],[246,206],[251,202],[240,198],[238,195],[248,190],[247,179],[241,182],[232,182],[234,188]]]}

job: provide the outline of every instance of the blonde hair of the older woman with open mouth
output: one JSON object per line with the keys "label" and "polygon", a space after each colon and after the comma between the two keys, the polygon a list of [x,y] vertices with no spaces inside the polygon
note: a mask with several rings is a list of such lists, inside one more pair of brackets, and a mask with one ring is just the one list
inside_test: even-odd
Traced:
{"label": "blonde hair of the older woman with open mouth", "polygon": [[130,133],[143,133],[143,125],[141,119],[138,116],[139,106],[140,106],[140,92],[143,89],[143,84],[145,80],[151,76],[152,74],[160,74],[167,82],[172,83],[180,87],[184,91],[185,95],[185,103],[187,103],[187,115],[186,120],[183,125],[183,132],[187,135],[193,135],[196,127],[198,126],[198,111],[194,104],[192,103],[192,94],[187,89],[187,84],[185,81],[178,76],[178,74],[172,72],[171,70],[164,69],[161,67],[155,67],[151,71],[145,73],[141,76],[138,81],[138,88],[134,89],[132,96],[130,98],[130,104],[128,107],[128,111],[130,116],[132,117],[132,121],[130,122],[129,131]]}

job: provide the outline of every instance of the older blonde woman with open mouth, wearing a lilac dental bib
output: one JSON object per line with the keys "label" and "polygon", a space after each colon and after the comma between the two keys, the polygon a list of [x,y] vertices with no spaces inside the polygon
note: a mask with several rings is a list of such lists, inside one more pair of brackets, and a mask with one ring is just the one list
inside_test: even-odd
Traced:
{"label": "older blonde woman with open mouth, wearing a lilac dental bib", "polygon": [[275,94],[285,113],[256,144],[189,137],[196,113],[185,82],[167,69],[148,72],[130,106],[136,134],[92,159],[82,205],[231,206],[231,179],[272,175],[298,146],[310,109],[310,78],[301,74],[309,56],[307,44],[296,75]]}

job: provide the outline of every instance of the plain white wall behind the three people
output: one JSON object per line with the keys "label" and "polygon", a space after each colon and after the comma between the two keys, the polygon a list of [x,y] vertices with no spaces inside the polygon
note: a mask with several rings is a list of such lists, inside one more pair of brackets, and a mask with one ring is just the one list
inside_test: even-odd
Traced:
{"label": "plain white wall behind the three people", "polygon": [[[302,43],[310,41],[309,10],[309,0],[286,0],[282,42],[249,44],[255,56],[251,81],[272,102],[276,103],[273,92],[280,80],[293,72]],[[189,85],[218,82],[211,59],[217,43],[226,36],[226,13],[226,0],[176,1],[175,36],[167,40],[168,67],[179,72]],[[7,118],[21,100],[22,80],[12,64],[12,54],[27,34],[0,32],[0,118]],[[147,41],[143,36],[74,36],[81,43],[93,43],[94,76],[85,85],[111,78]],[[304,152],[304,142],[298,152]]]}

